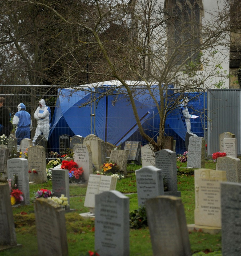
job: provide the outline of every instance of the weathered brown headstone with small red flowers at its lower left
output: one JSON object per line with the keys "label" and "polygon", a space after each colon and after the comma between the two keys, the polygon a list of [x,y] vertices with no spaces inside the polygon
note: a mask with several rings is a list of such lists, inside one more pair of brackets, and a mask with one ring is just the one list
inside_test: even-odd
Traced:
{"label": "weathered brown headstone with small red flowers at its lower left", "polygon": [[37,173],[29,173],[29,181],[31,182],[46,182],[46,157],[45,149],[42,146],[34,146],[28,149],[29,170],[35,169]]}

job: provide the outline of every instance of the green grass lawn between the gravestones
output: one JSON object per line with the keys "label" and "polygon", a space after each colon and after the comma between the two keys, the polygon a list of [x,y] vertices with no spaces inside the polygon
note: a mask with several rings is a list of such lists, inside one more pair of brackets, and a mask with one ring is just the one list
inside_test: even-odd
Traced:
{"label": "green grass lawn between the gravestones", "polygon": [[[186,163],[177,162],[178,190],[184,204],[187,224],[194,224],[195,191],[194,170],[186,169]],[[118,180],[116,190],[127,194],[130,199],[130,211],[138,209],[136,194],[135,170],[141,166],[130,164],[127,166],[128,177]],[[215,163],[208,161],[206,168],[215,169]],[[30,197],[34,191],[46,188],[51,189],[51,181],[42,184],[30,184]],[[70,208],[76,211],[66,213],[66,229],[69,256],[85,255],[87,251],[94,251],[94,219],[83,219],[79,213],[88,212],[84,207],[86,187],[70,186]],[[26,214],[25,214],[26,213]],[[22,247],[1,251],[0,256],[38,256],[37,232],[33,204],[13,207],[14,222],[16,227],[17,242]],[[51,218],[49,219],[51,222]],[[47,237],[46,237],[47,239]],[[210,235],[202,232],[189,234],[192,255],[220,256],[221,235]],[[49,241],[51,243],[51,241]],[[130,256],[152,256],[150,233],[147,228],[130,229]]]}

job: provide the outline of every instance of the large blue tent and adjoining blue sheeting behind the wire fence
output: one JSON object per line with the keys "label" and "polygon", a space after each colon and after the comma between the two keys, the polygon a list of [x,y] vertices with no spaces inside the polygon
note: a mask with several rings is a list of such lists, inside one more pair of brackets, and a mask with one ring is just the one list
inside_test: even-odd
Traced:
{"label": "large blue tent and adjoining blue sheeting behind the wire fence", "polygon": [[[134,83],[136,95],[134,97],[138,117],[142,123],[145,132],[154,140],[156,140],[159,131],[159,116],[155,103],[150,97],[150,93],[143,89],[143,82],[126,81],[130,85]],[[112,143],[114,145],[124,145],[125,141],[141,141],[145,145],[145,141],[136,125],[133,110],[130,104],[130,99],[126,95],[126,91],[122,88],[121,91],[116,89],[119,86],[117,81],[108,81],[92,85],[79,87],[79,90],[61,89],[58,91],[58,99],[55,106],[55,111],[52,120],[52,126],[49,135],[49,145],[53,151],[59,151],[59,136],[67,134],[70,137],[73,135],[95,134],[99,138]],[[105,91],[113,88],[113,95],[105,95]],[[86,91],[89,88],[89,91]],[[97,88],[97,89],[94,89]],[[169,86],[170,95],[172,95],[173,85]],[[81,90],[82,89],[82,90]],[[85,91],[83,91],[85,89]],[[159,90],[157,85],[151,86],[151,91],[159,102]],[[169,90],[168,90],[169,91]],[[167,93],[168,93],[167,91]],[[97,103],[90,104],[91,97],[104,97],[98,99]],[[192,102],[188,102],[188,109],[195,111],[193,114],[200,116],[203,112],[203,95],[189,93],[188,97],[195,98]],[[169,93],[168,93],[169,95]],[[176,94],[178,95],[178,94]],[[173,97],[173,96],[170,96]],[[197,100],[198,99],[198,100]],[[168,101],[172,102],[170,98]],[[203,136],[203,127],[201,127],[201,119],[197,118],[192,121],[192,132],[198,136]],[[177,154],[185,151],[185,135],[186,129],[180,117],[178,109],[168,113],[165,132],[169,136],[173,136],[177,140]]]}

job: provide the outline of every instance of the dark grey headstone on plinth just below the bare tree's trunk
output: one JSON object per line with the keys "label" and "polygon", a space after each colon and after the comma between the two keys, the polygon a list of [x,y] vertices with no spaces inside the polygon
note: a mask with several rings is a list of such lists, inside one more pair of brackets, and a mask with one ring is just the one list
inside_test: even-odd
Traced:
{"label": "dark grey headstone on plinth just below the bare tree's trunk", "polygon": [[177,191],[176,153],[169,149],[162,149],[155,152],[156,168],[162,170],[163,179],[166,181],[167,191],[164,195],[180,197],[181,192]]}

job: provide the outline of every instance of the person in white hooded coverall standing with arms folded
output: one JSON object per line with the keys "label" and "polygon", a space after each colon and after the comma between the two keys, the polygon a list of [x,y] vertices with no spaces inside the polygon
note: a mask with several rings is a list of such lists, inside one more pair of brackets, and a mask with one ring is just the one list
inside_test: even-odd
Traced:
{"label": "person in white hooded coverall standing with arms folded", "polygon": [[35,131],[35,135],[33,138],[33,143],[38,138],[39,135],[43,134],[48,140],[49,138],[49,128],[50,128],[50,119],[51,119],[51,111],[50,107],[46,106],[45,100],[41,99],[39,101],[39,106],[37,107],[34,118],[38,120],[38,125]]}

